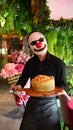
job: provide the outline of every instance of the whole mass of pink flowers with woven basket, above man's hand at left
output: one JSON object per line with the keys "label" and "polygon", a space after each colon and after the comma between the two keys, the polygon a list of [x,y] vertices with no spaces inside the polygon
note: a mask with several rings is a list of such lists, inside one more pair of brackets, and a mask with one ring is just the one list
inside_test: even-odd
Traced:
{"label": "whole mass of pink flowers with woven basket, above man's hand at left", "polygon": [[14,85],[29,58],[30,57],[26,53],[20,53],[15,50],[12,53],[12,63],[5,64],[4,68],[1,69],[0,76],[4,79],[8,79],[10,86]]}

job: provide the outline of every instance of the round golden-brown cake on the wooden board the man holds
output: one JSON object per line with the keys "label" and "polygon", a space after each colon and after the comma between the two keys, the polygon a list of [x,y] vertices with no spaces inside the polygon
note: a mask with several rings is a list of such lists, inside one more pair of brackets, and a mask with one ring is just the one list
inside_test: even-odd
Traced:
{"label": "round golden-brown cake on the wooden board the man holds", "polygon": [[55,89],[55,80],[53,76],[38,75],[31,80],[32,89],[45,92]]}

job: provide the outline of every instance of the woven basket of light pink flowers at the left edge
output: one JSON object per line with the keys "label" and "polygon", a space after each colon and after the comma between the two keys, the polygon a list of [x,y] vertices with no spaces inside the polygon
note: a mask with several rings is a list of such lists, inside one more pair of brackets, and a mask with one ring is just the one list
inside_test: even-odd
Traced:
{"label": "woven basket of light pink flowers at the left edge", "polygon": [[1,69],[0,76],[3,79],[8,79],[9,85],[12,86],[16,84],[22,73],[23,68],[23,64],[7,63],[4,68]]}

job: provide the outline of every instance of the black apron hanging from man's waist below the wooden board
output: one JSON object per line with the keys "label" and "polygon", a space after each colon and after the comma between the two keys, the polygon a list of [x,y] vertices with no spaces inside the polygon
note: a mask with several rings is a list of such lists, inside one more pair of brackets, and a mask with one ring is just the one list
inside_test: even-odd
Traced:
{"label": "black apron hanging from man's waist below the wooden board", "polygon": [[56,97],[30,97],[20,130],[61,130]]}

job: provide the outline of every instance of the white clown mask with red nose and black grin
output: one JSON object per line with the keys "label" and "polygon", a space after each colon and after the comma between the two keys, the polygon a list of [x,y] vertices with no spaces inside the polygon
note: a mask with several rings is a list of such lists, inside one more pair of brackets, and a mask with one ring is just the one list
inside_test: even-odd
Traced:
{"label": "white clown mask with red nose and black grin", "polygon": [[28,43],[36,55],[44,55],[47,52],[47,41],[40,32],[33,32],[28,38]]}

